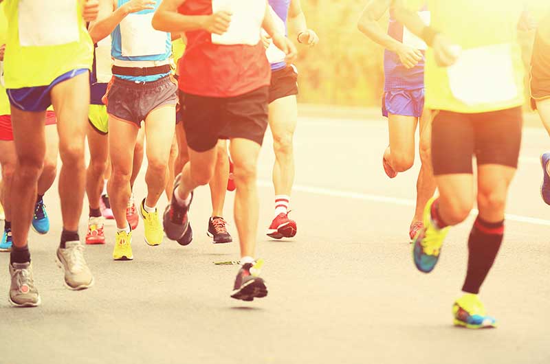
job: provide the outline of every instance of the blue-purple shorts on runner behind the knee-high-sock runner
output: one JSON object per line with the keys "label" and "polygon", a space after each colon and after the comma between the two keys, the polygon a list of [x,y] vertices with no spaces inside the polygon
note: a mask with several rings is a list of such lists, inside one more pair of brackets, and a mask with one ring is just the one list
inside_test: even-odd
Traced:
{"label": "blue-purple shorts on runner behind the knee-high-sock runner", "polygon": [[382,95],[382,115],[421,117],[424,89],[387,91]]}

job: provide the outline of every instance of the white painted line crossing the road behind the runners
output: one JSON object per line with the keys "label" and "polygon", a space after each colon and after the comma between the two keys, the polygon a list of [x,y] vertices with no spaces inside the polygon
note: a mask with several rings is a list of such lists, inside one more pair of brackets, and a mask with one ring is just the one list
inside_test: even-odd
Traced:
{"label": "white painted line crossing the road behind the runners", "polygon": [[[265,180],[258,181],[258,185],[261,187],[273,187],[273,184],[271,181],[265,181]],[[401,206],[414,207],[416,203],[415,201],[409,200],[407,198],[380,196],[377,194],[364,194],[360,192],[333,190],[330,188],[312,187],[312,186],[305,186],[305,185],[294,185],[294,187],[292,187],[292,190],[298,191],[298,192],[305,192],[308,194],[318,194],[321,196],[352,198],[353,200],[391,203],[393,205],[401,205]],[[472,209],[472,212],[470,213],[470,215],[476,216],[477,214],[478,214],[478,210]],[[530,216],[521,216],[521,215],[514,215],[514,214],[506,214],[505,218],[506,220],[516,221],[518,223],[550,226],[550,220],[544,220],[542,218],[533,218]]]}

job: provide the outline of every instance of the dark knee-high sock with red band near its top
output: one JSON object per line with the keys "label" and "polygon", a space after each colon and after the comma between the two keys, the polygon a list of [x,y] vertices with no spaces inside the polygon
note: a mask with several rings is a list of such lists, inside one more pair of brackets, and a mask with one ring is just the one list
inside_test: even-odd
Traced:
{"label": "dark knee-high sock with red band near its top", "polygon": [[479,288],[493,266],[503,241],[504,221],[487,223],[476,219],[468,239],[468,268],[462,291],[479,293]]}

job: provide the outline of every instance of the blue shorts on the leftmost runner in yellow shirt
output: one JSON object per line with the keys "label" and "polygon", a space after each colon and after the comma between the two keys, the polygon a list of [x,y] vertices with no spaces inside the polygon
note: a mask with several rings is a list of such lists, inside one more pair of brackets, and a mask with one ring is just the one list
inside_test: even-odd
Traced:
{"label": "blue shorts on the leftmost runner in yellow shirt", "polygon": [[6,92],[8,93],[10,104],[22,111],[45,111],[52,104],[51,91],[56,84],[70,80],[85,72],[89,72],[89,70],[80,68],[63,73],[63,75],[53,80],[52,83],[47,86],[8,89]]}

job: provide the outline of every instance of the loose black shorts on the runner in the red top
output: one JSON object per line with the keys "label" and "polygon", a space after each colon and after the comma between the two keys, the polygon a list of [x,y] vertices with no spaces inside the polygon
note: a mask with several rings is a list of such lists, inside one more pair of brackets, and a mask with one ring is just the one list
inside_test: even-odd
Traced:
{"label": "loose black shorts on the runner in the red top", "polygon": [[180,91],[184,129],[189,148],[206,152],[218,139],[243,138],[262,144],[267,129],[267,96],[260,87],[232,98],[212,98]]}

